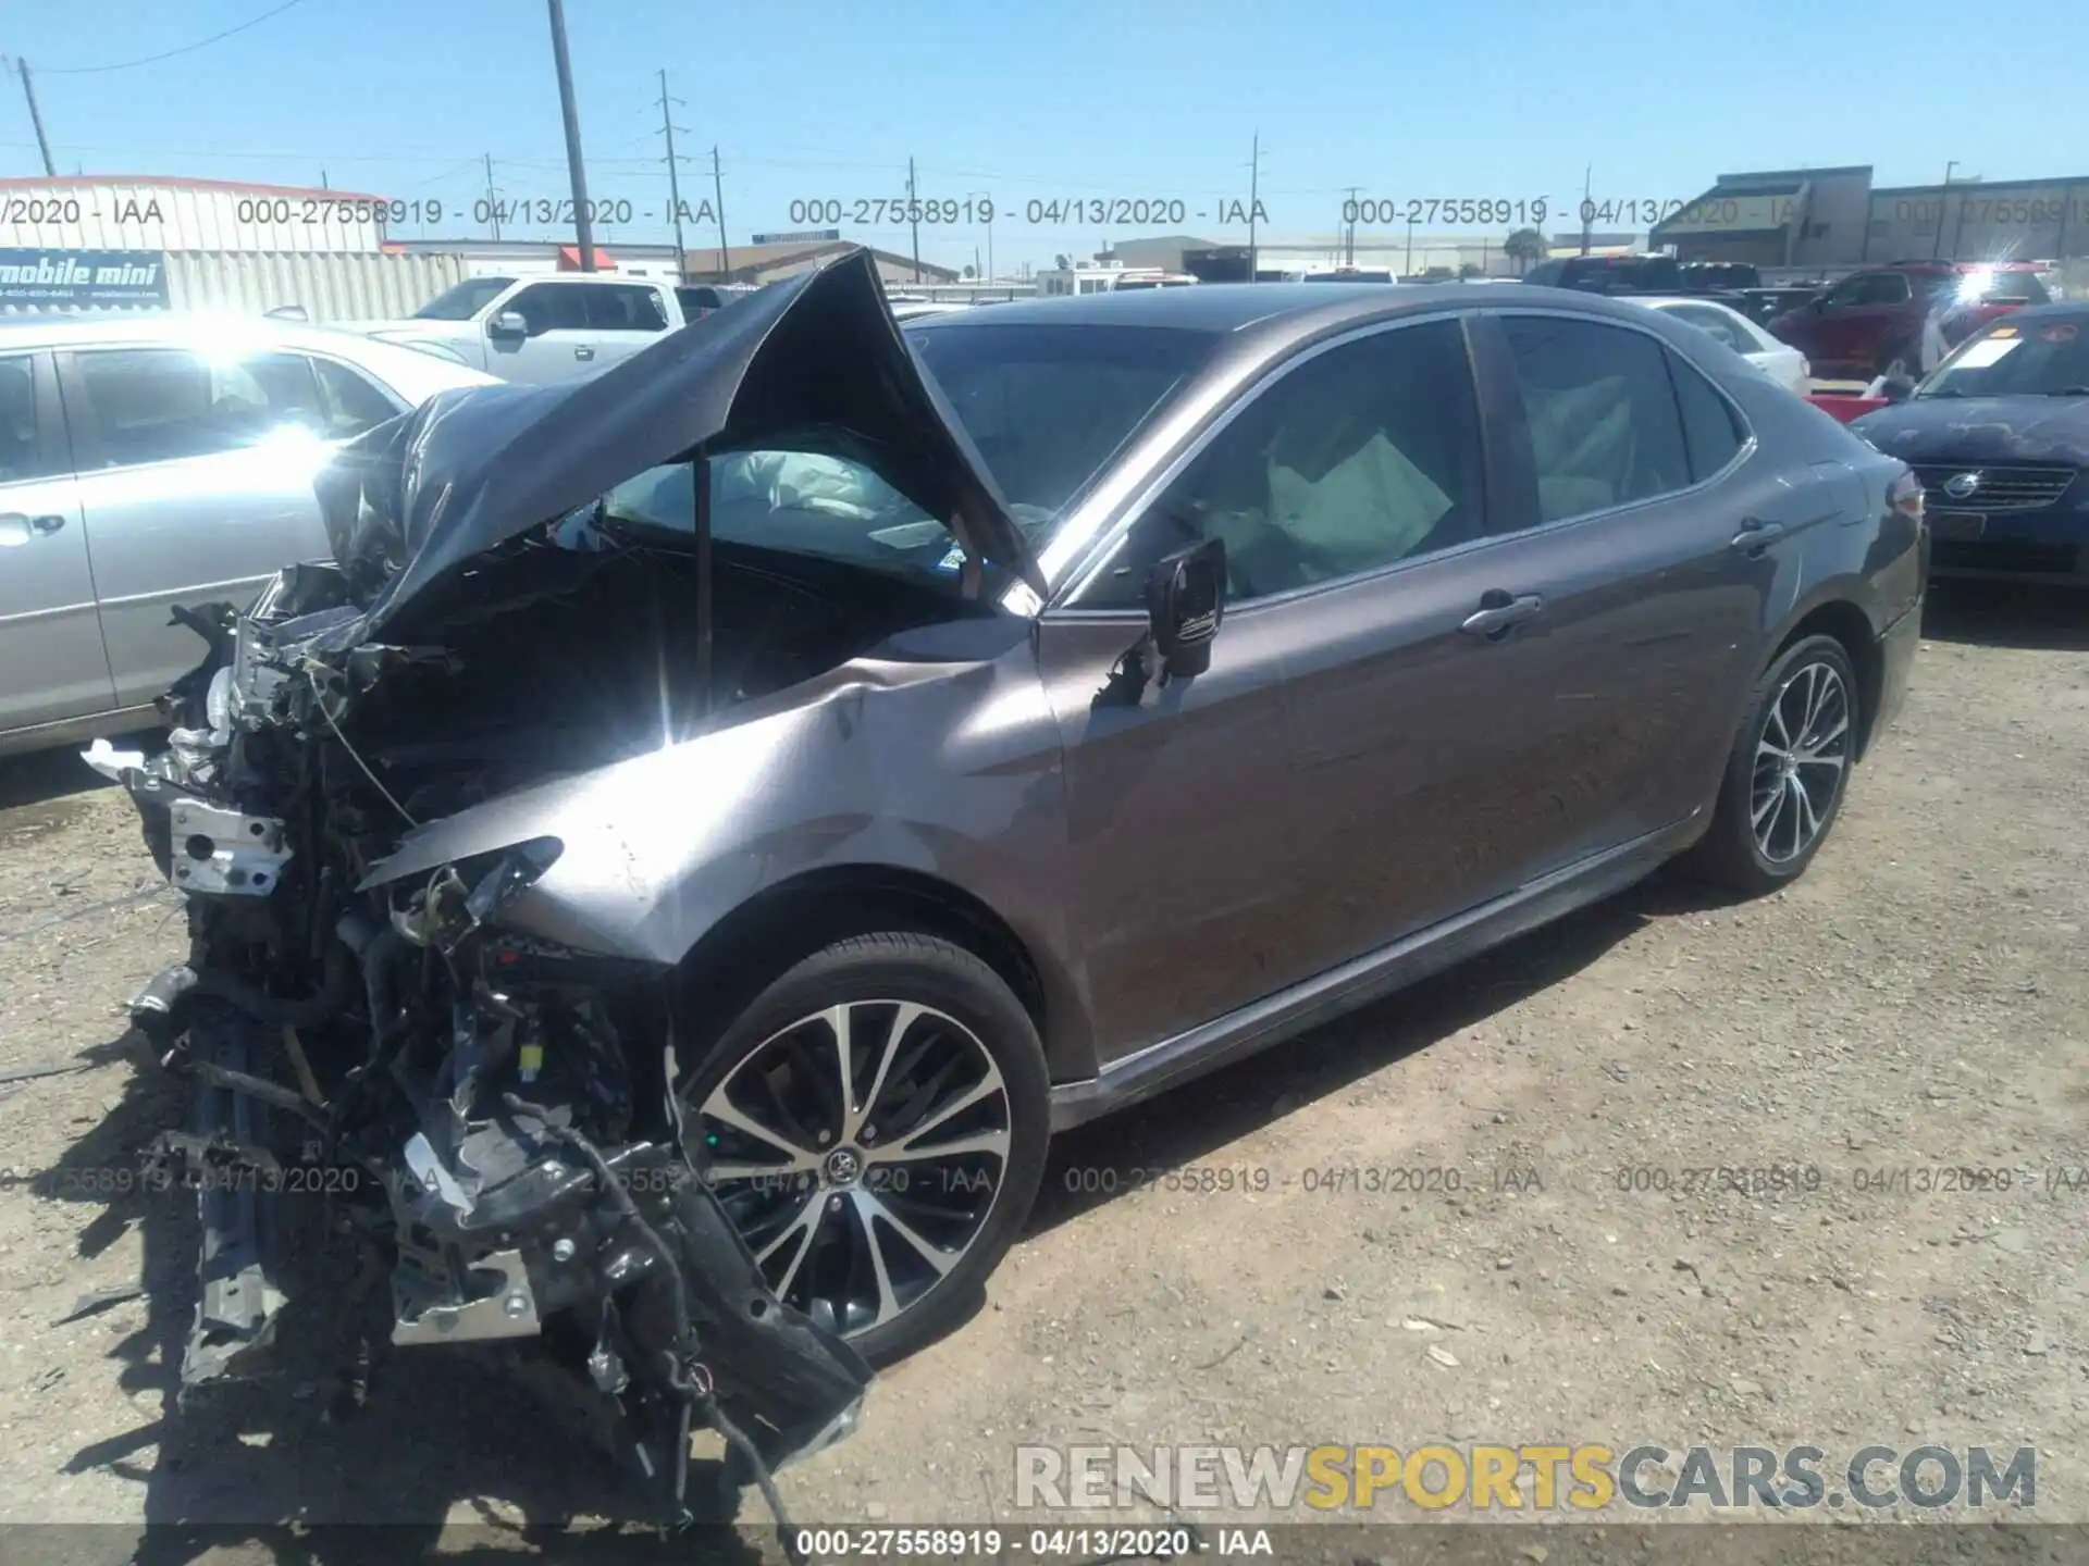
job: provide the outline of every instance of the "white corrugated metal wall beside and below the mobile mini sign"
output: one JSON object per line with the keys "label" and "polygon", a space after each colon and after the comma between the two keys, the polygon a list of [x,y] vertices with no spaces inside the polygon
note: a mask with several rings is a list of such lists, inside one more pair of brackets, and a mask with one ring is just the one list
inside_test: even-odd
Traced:
{"label": "white corrugated metal wall beside and below the mobile mini sign", "polygon": [[[412,315],[466,276],[464,257],[414,255],[255,255],[251,251],[169,251],[167,303],[173,309],[221,309],[263,315],[303,305],[320,322],[374,322]],[[44,315],[63,307],[4,305],[6,315]],[[63,311],[111,315],[119,307]]]}

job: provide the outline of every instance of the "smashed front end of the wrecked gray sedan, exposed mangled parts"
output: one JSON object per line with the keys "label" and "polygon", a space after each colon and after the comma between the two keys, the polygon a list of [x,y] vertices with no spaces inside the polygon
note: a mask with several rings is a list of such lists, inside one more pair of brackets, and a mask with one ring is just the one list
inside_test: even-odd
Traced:
{"label": "smashed front end of the wrecked gray sedan, exposed mangled parts", "polygon": [[363,770],[355,704],[380,681],[290,612],[315,576],[221,612],[169,748],[117,758],[188,894],[188,958],[134,1002],[196,1084],[150,1153],[201,1201],[184,1389],[269,1368],[282,1230],[318,1207],[370,1261],[349,1380],[389,1351],[539,1340],[620,1407],[664,1518],[717,1516],[687,1489],[691,1428],[727,1432],[729,1489],[767,1480],[852,1424],[869,1370],[775,1299],[683,1146],[673,973],[503,927],[556,839],[368,883],[447,785]]}

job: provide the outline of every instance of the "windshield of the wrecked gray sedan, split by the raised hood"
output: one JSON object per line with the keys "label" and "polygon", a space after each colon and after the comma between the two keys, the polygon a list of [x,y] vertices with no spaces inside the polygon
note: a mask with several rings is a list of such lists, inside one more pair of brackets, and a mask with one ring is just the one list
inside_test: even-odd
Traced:
{"label": "windshield of the wrecked gray sedan, split by the raised hood", "polygon": [[[1216,338],[1174,328],[915,330],[909,342],[957,409],[1032,547],[1182,380]],[[696,532],[687,461],[631,478],[577,512],[562,541],[597,530]],[[840,560],[957,591],[965,551],[942,520],[869,466],[815,451],[733,451],[710,464],[710,535],[723,545]]]}

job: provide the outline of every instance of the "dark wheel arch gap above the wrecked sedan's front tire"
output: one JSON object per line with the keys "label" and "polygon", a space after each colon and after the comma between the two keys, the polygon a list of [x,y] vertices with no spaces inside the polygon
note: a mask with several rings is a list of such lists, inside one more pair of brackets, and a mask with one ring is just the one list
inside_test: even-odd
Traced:
{"label": "dark wheel arch gap above the wrecked sedan's front tire", "polygon": [[771,979],[850,935],[911,929],[940,935],[986,963],[1015,994],[1044,1042],[1053,1082],[1095,1075],[1095,1048],[1072,975],[1026,942],[980,896],[898,864],[823,864],[762,887],[710,925],[677,963],[683,1015],[702,1046]]}

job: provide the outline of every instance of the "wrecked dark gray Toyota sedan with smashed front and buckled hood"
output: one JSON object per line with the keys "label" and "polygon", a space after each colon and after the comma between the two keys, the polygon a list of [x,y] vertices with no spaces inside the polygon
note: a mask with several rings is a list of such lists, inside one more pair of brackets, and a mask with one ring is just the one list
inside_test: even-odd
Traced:
{"label": "wrecked dark gray Toyota sedan with smashed front and buckled hood", "polygon": [[[393,1334],[545,1334],[662,1485],[712,1376],[773,1462],[948,1328],[1053,1128],[1684,850],[1792,881],[1924,587],[1901,461],[1512,284],[902,336],[856,251],[322,503],[123,773],[190,894],[169,1157],[363,1171]],[[192,1376],[272,1305],[215,1194]]]}

